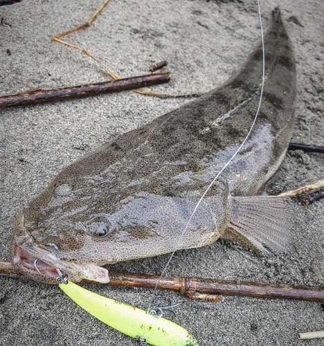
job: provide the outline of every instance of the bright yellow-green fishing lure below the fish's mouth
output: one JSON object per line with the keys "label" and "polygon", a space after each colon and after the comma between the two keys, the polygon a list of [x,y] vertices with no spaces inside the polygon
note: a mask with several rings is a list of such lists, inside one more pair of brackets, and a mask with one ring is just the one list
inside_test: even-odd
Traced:
{"label": "bright yellow-green fishing lure below the fish's mouth", "polygon": [[195,338],[170,320],[156,318],[144,310],[83,289],[73,282],[60,289],[82,309],[110,327],[156,346],[198,346]]}

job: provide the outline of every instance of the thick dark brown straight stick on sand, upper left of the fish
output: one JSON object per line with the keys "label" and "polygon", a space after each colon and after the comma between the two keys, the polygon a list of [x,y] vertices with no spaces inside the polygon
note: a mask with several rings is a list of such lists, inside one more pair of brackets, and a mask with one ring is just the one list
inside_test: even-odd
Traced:
{"label": "thick dark brown straight stick on sand, upper left of the fish", "polygon": [[168,82],[171,77],[172,73],[170,72],[154,73],[151,75],[140,75],[122,80],[111,80],[109,82],[69,86],[62,89],[27,91],[26,93],[1,97],[0,108],[19,106],[21,104],[59,101],[66,98],[80,98],[112,91],[136,89],[142,86]]}

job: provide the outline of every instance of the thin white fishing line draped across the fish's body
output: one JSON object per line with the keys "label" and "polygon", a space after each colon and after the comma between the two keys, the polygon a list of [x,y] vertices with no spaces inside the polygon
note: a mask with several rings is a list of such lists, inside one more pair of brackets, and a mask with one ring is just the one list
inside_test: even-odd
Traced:
{"label": "thin white fishing line draped across the fish's body", "polygon": [[[197,205],[195,206],[195,209],[193,210],[193,212],[191,213],[188,222],[185,226],[185,228],[183,229],[180,238],[181,239],[183,237],[183,235],[186,233],[186,230],[188,229],[188,226],[190,224],[190,221],[192,220],[192,217],[195,215],[195,213],[197,212],[197,209],[199,208],[201,201],[204,199],[204,197],[206,196],[207,192],[210,190],[210,188],[213,186],[213,184],[215,183],[215,181],[217,180],[217,178],[219,177],[220,174],[222,174],[222,172],[224,172],[224,170],[226,169],[226,167],[231,163],[231,161],[233,161],[233,158],[235,158],[235,156],[237,155],[238,152],[240,152],[240,150],[242,149],[243,145],[246,143],[246,140],[249,138],[249,136],[251,135],[251,132],[253,130],[253,127],[255,125],[256,120],[258,119],[258,115],[259,115],[259,111],[260,111],[260,107],[261,107],[261,103],[262,103],[262,95],[263,95],[263,89],[264,89],[264,75],[265,75],[265,57],[264,57],[264,37],[263,37],[263,27],[262,27],[262,18],[261,18],[261,10],[260,10],[260,0],[257,0],[258,2],[258,14],[259,14],[259,21],[260,21],[260,29],[261,29],[261,40],[262,40],[262,84],[261,84],[261,91],[260,91],[260,100],[259,100],[259,104],[258,104],[258,109],[255,113],[255,117],[254,120],[252,122],[251,128],[249,130],[249,133],[246,135],[246,137],[244,138],[243,142],[241,143],[240,147],[238,147],[238,149],[236,150],[236,152],[233,154],[233,156],[227,161],[227,163],[224,165],[224,167],[222,168],[222,170],[220,170],[218,172],[218,174],[215,176],[215,178],[213,179],[213,181],[208,185],[208,188],[206,188],[204,194],[202,194],[202,196],[200,197]],[[154,291],[153,291],[153,298],[149,304],[149,309],[147,311],[150,311],[150,307],[152,306],[152,302],[154,301],[154,299],[156,298],[156,289],[157,286],[161,280],[161,277],[163,277],[163,275],[165,274],[166,269],[168,268],[172,257],[174,256],[174,253],[176,251],[174,250],[171,255],[170,258],[167,262],[167,264],[165,264],[165,267],[163,268],[163,271],[160,275],[159,280],[156,282],[156,285],[154,287]]]}

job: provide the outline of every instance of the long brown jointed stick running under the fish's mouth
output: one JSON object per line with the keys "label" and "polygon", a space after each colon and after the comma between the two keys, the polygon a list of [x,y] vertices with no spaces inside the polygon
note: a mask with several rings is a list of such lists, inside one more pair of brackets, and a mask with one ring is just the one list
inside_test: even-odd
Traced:
{"label": "long brown jointed stick running under the fish's mouth", "polygon": [[[0,262],[0,274],[21,275],[9,262]],[[118,286],[145,287],[179,291],[192,299],[220,299],[219,295],[238,295],[240,297],[279,298],[324,302],[324,289],[312,286],[291,286],[287,284],[266,284],[262,282],[237,282],[234,280],[215,280],[201,277],[160,277],[136,273],[109,272],[110,282]],[[84,280],[86,281],[86,280]],[[96,283],[96,282],[93,282]]]}

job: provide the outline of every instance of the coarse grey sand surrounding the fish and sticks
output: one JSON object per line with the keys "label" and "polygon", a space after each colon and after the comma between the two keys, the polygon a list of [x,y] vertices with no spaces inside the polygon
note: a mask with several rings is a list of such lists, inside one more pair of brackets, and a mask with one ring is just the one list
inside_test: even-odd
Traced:
{"label": "coarse grey sand surrounding the fish and sticks", "polygon": [[[324,3],[280,1],[294,43],[298,73],[296,123],[292,140],[324,145]],[[99,1],[24,0],[0,8],[0,94],[40,87],[78,85],[107,79],[105,71],[79,51],[51,37],[81,24]],[[269,27],[277,1],[262,1]],[[295,15],[302,26],[288,21]],[[169,62],[172,81],[156,90],[208,91],[225,80],[260,38],[256,1],[111,0],[90,28],[69,42],[87,48],[123,77],[147,73]],[[7,49],[11,55],[8,55]],[[188,102],[124,91],[112,95],[0,110],[0,259],[8,260],[15,215],[62,167],[116,134],[150,122]],[[291,152],[267,192],[275,194],[324,176],[323,155]],[[295,202],[296,205],[298,201]],[[235,244],[216,242],[179,251],[168,275],[229,280],[324,285],[324,202],[300,206],[287,255],[263,258]],[[161,273],[168,256],[112,266]],[[322,268],[322,269],[321,269]],[[88,284],[87,288],[147,308],[152,291]],[[178,293],[166,293],[178,300]],[[172,315],[170,316],[172,318]],[[222,302],[186,299],[174,318],[200,345],[323,345],[301,341],[298,331],[324,329],[319,303],[224,297]],[[57,286],[14,276],[0,277],[1,345],[137,345],[78,308]]]}

